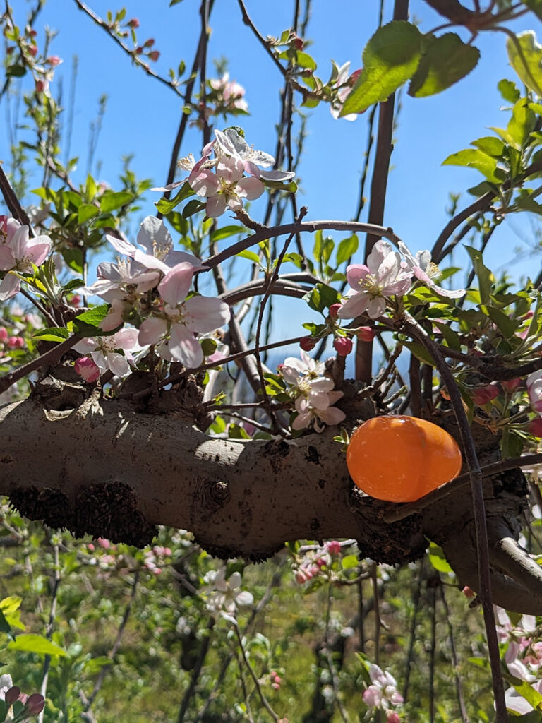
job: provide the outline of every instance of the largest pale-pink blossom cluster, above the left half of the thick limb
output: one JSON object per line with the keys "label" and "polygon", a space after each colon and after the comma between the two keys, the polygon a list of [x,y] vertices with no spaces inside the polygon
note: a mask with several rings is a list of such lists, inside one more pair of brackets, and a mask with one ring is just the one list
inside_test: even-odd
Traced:
{"label": "largest pale-pink blossom cluster, above the left half of the thick limb", "polygon": [[[104,331],[132,321],[139,326],[139,332],[127,329],[112,337],[85,339],[76,350],[90,353],[100,373],[108,367],[119,376],[128,373],[128,353],[138,343],[156,345],[160,356],[180,361],[185,367],[193,369],[202,364],[203,351],[196,335],[223,326],[230,309],[220,299],[195,295],[188,298],[194,271],[201,268],[199,260],[192,254],[174,251],[171,235],[153,216],[142,222],[137,247],[113,236],[107,238],[126,258],[119,258],[116,264],[100,264],[98,280],[85,291],[111,304],[100,323]],[[124,350],[124,356],[119,349]],[[98,372],[89,361],[79,361],[79,369],[87,380],[97,378]]]}

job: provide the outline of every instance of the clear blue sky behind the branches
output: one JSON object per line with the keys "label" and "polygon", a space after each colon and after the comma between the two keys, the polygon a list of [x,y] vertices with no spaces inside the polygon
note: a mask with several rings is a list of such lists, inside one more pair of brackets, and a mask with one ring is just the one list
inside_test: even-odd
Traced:
{"label": "clear blue sky behind the branches", "polygon": [[[122,7],[113,7],[104,0],[90,0],[89,4],[102,16],[107,9]],[[15,12],[21,13],[22,3],[16,5]],[[246,0],[249,14],[262,35],[280,35],[290,27],[292,5],[289,0]],[[158,63],[153,64],[158,72],[167,74],[168,68],[177,67],[181,59],[187,67],[192,64],[199,34],[197,0],[183,0],[171,9],[168,0],[129,0],[124,6],[126,17],[137,17],[140,21],[140,42],[155,38],[154,47],[161,53]],[[352,69],[361,66],[364,44],[376,27],[378,7],[378,0],[313,0],[307,35],[314,43],[307,49],[318,63],[317,74],[327,78],[330,59],[338,64],[351,60]],[[442,18],[423,1],[412,0],[410,7],[421,30],[442,24]],[[392,2],[387,0],[388,18],[391,11]],[[49,0],[40,15],[39,25],[43,24],[58,31],[51,52],[64,59],[56,77],[63,79],[65,99],[72,56],[77,54],[79,59],[72,155],[79,155],[80,161],[74,180],[82,181],[87,173],[90,122],[96,116],[99,96],[106,93],[107,112],[95,155],[101,164],[100,179],[114,184],[121,169],[121,156],[132,153],[132,168],[137,175],[163,184],[181,99],[131,67],[128,57],[77,9],[73,0]],[[283,79],[242,24],[236,0],[216,0],[210,25],[209,58],[228,59],[231,77],[246,87],[251,111],[250,116],[242,119],[246,139],[255,147],[272,152]],[[534,16],[529,16],[515,30],[532,28],[540,38],[539,25]],[[38,40],[42,42],[41,37]],[[504,40],[502,33],[483,33],[477,38],[476,45],[481,49],[478,67],[445,93],[423,99],[403,94],[384,223],[392,226],[413,251],[430,248],[447,222],[449,192],[463,191],[460,205],[465,205],[471,200],[465,189],[482,180],[476,171],[441,163],[449,153],[488,134],[487,127],[506,124],[507,116],[499,111],[503,101],[496,85],[503,77],[515,80],[515,74],[507,63]],[[5,112],[5,101],[2,104],[1,111]],[[309,114],[309,136],[299,168],[299,205],[308,205],[309,219],[351,218],[358,197],[359,171],[364,163],[366,116],[353,123],[336,121],[324,104]],[[6,141],[7,135],[0,134],[0,158],[7,158]],[[201,146],[199,132],[192,129],[186,134],[181,155],[192,151],[198,157]],[[147,194],[142,216],[153,213],[155,200],[158,196]],[[255,218],[257,209],[255,204]],[[223,223],[231,222],[224,216]],[[516,269],[517,274],[532,268],[532,258],[515,267],[510,265],[518,256],[518,247],[528,249],[533,240],[529,222],[506,223],[495,239],[489,254],[492,265],[506,264]],[[310,247],[310,239],[308,244]],[[535,263],[539,266],[539,257]]]}

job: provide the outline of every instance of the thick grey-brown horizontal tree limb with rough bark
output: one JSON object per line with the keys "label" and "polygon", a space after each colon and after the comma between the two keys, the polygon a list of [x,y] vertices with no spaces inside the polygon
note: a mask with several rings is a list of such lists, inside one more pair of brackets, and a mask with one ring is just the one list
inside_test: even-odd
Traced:
{"label": "thick grey-brown horizontal tree limb with rough bark", "polygon": [[[390,503],[353,486],[335,429],[289,441],[223,440],[178,411],[143,413],[96,394],[72,407],[62,399],[52,405],[34,395],[0,407],[0,493],[30,518],[138,546],[163,524],[192,531],[214,555],[249,560],[269,557],[286,540],[353,537],[361,555],[402,564],[421,557],[433,539],[476,589],[473,513],[464,488],[386,523]],[[367,416],[371,404],[364,402],[357,417]],[[351,410],[349,418],[356,423]],[[494,461],[495,438],[481,433],[477,444],[483,463]],[[509,562],[525,507],[523,476],[512,470],[488,478],[484,494],[495,602],[540,614],[537,566],[519,546]],[[507,537],[512,542],[502,543]]]}

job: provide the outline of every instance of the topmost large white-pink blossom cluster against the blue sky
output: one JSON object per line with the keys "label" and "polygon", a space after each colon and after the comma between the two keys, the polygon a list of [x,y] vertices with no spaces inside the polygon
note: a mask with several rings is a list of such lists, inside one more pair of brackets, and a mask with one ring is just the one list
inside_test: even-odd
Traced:
{"label": "topmost large white-pink blossom cluster against the blue sky", "polygon": [[[214,158],[211,158],[212,154]],[[262,150],[254,150],[234,128],[224,132],[215,129],[215,140],[207,143],[199,161],[192,153],[181,158],[178,166],[189,175],[156,191],[170,191],[185,181],[192,190],[207,199],[205,213],[218,218],[225,210],[240,211],[243,200],[255,200],[264,192],[265,181],[288,181],[293,171],[262,171],[275,165],[275,158]]]}

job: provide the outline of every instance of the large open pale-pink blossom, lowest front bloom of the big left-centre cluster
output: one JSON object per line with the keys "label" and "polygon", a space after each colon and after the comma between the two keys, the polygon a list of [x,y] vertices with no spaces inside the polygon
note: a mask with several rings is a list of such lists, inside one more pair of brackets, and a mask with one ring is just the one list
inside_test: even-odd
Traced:
{"label": "large open pale-pink blossom, lowest front bloom of the big left-centre cluster", "polygon": [[220,299],[210,296],[186,299],[193,274],[194,267],[188,262],[174,266],[158,284],[165,302],[163,310],[145,319],[139,327],[140,344],[160,343],[157,349],[160,356],[180,361],[188,369],[199,367],[203,361],[202,347],[194,334],[215,331],[230,318],[228,304]]}

